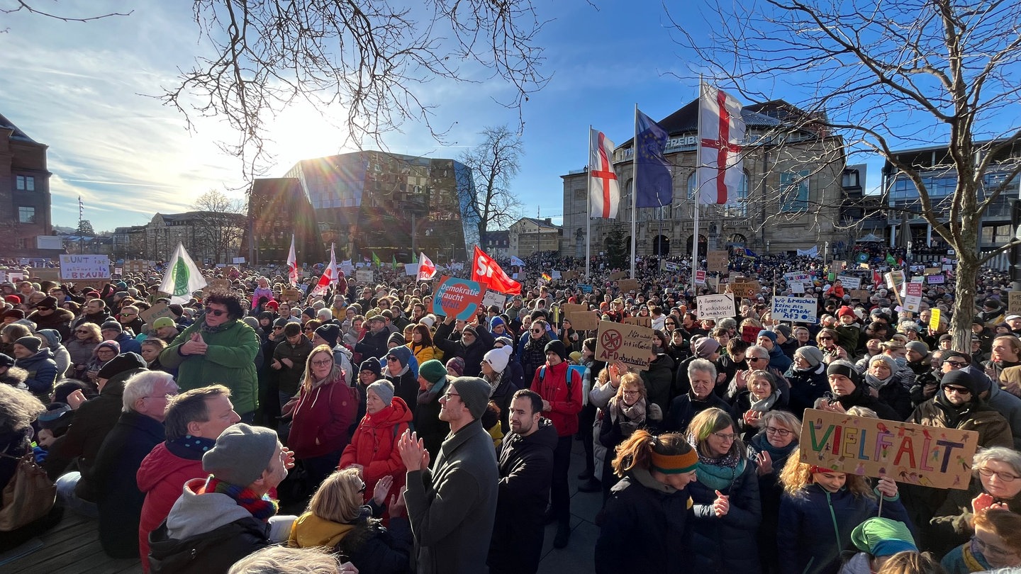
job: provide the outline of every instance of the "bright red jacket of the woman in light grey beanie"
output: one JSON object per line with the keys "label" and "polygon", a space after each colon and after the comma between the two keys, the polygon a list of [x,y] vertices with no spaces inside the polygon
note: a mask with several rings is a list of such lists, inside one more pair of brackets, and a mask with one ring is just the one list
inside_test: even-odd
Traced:
{"label": "bright red jacket of the woman in light grey beanie", "polygon": [[390,405],[375,415],[367,414],[354,430],[351,443],[344,448],[337,468],[361,465],[366,480],[366,497],[373,495],[376,482],[386,475],[393,477],[391,492],[399,492],[404,485],[404,463],[397,450],[397,438],[408,428],[411,410],[399,396]]}

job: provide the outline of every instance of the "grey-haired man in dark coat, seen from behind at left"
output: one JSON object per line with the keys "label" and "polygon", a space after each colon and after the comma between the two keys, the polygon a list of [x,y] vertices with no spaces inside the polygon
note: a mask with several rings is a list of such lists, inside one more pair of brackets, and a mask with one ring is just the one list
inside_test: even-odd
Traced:
{"label": "grey-haired man in dark coat, seen from behind at left", "polygon": [[93,477],[99,507],[99,542],[112,558],[138,556],[138,524],[145,494],[136,475],[142,460],[165,438],[163,412],[178,393],[169,373],[146,371],[125,383],[124,403],[113,430],[99,447]]}

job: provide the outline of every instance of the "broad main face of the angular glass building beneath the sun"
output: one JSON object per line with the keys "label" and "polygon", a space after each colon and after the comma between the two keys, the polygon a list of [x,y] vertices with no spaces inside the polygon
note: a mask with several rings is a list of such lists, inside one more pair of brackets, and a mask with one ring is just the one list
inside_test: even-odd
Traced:
{"label": "broad main face of the angular glass building beneath the sun", "polygon": [[471,170],[453,159],[361,151],[304,159],[298,180],[338,259],[465,260],[479,242]]}

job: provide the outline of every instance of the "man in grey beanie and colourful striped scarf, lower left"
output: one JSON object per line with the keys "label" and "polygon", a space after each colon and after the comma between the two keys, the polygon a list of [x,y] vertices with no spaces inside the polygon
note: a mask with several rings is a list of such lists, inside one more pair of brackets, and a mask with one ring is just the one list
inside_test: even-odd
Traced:
{"label": "man in grey beanie and colourful striped scarf, lower left", "polygon": [[293,516],[276,516],[266,493],[287,476],[277,433],[231,425],[202,456],[208,478],[189,480],[169,516],[149,535],[159,574],[224,573],[242,558],[287,540]]}

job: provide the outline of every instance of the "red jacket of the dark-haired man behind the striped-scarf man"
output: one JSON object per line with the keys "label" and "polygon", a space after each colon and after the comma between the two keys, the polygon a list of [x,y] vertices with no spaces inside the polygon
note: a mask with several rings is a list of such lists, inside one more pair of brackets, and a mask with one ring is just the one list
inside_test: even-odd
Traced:
{"label": "red jacket of the dark-haired man behind the striped-scarf man", "polygon": [[[196,451],[195,455],[198,456],[199,452]],[[181,497],[186,482],[206,476],[208,473],[202,470],[202,459],[178,457],[166,448],[165,442],[157,444],[142,460],[135,480],[138,481],[138,489],[145,492],[142,519],[138,525],[138,551],[142,557],[142,568],[146,572],[149,571],[149,532],[166,520],[171,507]]]}

